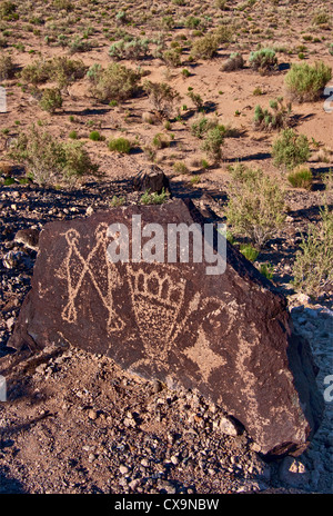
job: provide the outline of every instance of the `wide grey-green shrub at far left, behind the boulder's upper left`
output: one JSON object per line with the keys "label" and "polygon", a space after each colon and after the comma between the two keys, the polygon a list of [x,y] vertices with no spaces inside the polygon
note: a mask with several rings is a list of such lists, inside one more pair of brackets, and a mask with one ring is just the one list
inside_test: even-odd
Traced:
{"label": "wide grey-green shrub at far left, behind the boulder's upper left", "polygon": [[98,167],[90,160],[83,143],[60,142],[53,135],[41,131],[36,126],[27,132],[20,132],[10,148],[10,157],[24,163],[29,175],[39,185],[98,172]]}

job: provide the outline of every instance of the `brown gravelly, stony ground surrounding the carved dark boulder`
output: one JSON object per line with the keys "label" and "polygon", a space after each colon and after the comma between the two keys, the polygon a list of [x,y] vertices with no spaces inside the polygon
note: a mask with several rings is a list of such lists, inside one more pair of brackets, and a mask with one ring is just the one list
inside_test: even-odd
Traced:
{"label": "brown gravelly, stony ground surrounding the carved dark boulder", "polygon": [[[180,185],[174,189],[180,195]],[[219,211],[223,196],[199,194],[192,196],[201,209]],[[8,387],[8,400],[0,404],[0,493],[332,493],[330,400],[301,457],[268,460],[244,429],[193,391],[128,375],[111,359],[72,347],[8,354],[37,254],[16,242],[18,230],[85,217],[108,208],[114,195],[138,200],[128,180],[73,190],[19,183],[0,189],[0,374]],[[311,344],[324,393],[333,358],[330,296],[312,302],[289,285],[292,249],[305,222],[317,216],[317,196],[291,195],[290,220],[262,259],[276,265],[273,280],[289,296],[295,330]],[[307,209],[305,220],[300,206]]]}

